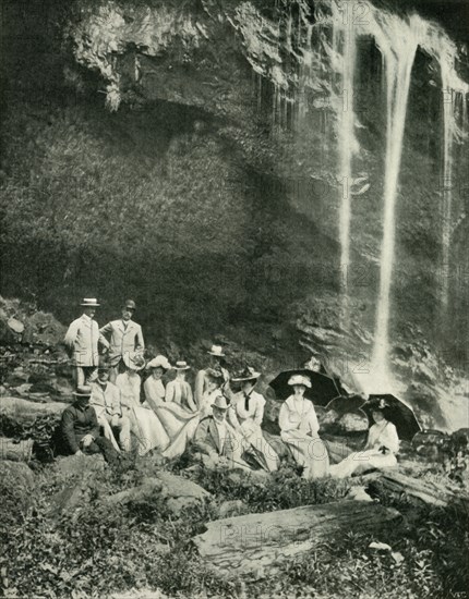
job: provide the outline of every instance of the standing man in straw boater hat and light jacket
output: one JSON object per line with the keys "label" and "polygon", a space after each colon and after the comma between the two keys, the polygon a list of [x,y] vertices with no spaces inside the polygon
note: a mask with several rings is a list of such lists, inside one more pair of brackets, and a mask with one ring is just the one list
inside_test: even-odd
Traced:
{"label": "standing man in straw boater hat and light jacket", "polygon": [[98,365],[98,341],[107,345],[99,333],[94,316],[99,306],[94,297],[85,297],[81,303],[83,315],[74,320],[67,331],[64,343],[70,351],[75,366],[76,387],[93,379]]}

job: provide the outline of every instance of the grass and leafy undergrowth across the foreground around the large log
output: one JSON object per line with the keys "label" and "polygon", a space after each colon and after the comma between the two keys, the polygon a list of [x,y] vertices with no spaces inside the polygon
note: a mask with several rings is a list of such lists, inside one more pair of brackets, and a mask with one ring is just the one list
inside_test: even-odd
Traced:
{"label": "grass and leafy undergrowth across the foreground around the large log", "polygon": [[[171,467],[177,472],[176,464]],[[246,512],[326,503],[342,498],[350,481],[305,481],[288,464],[256,481],[245,474],[193,470],[192,478],[213,498],[179,516],[158,493],[127,505],[106,503],[109,493],[134,487],[160,468],[160,460],[151,455],[129,460],[119,470],[94,473],[87,482],[89,503],[62,514],[51,513],[51,500],[76,476],[45,466],[27,499],[2,481],[3,596],[70,597],[73,591],[74,597],[103,597],[110,589],[158,588],[179,597],[465,597],[469,518],[455,506],[429,510],[382,494],[382,503],[402,513],[400,525],[385,527],[378,538],[334,536],[285,561],[277,575],[250,584],[212,571],[190,542],[205,522],[219,517],[219,506],[233,499],[241,499]],[[402,560],[370,549],[376,540]]]}

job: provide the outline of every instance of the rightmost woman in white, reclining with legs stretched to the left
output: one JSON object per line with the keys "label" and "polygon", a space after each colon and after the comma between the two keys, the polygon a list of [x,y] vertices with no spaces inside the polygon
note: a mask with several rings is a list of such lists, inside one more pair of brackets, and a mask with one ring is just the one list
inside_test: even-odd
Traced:
{"label": "rightmost woman in white, reclining with legs stretched to the left", "polygon": [[370,427],[364,450],[351,453],[339,464],[330,466],[330,476],[346,478],[371,468],[397,466],[399,437],[396,427],[388,420],[388,407],[385,400],[377,400],[370,406],[375,424]]}

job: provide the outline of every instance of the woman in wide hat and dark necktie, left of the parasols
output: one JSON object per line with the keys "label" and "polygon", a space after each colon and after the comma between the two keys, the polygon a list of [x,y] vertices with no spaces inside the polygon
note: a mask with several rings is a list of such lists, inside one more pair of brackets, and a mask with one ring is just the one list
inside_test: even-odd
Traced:
{"label": "woman in wide hat and dark necktie, left of the parasols", "polygon": [[265,440],[261,424],[264,418],[265,400],[254,391],[260,372],[246,367],[236,374],[232,382],[241,383],[241,391],[231,396],[228,421],[242,439],[242,449],[267,472],[278,468],[278,455]]}

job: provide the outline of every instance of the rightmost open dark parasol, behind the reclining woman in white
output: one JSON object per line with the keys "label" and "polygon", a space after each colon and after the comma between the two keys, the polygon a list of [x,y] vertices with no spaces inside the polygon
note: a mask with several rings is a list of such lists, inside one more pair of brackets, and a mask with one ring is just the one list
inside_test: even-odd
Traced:
{"label": "rightmost open dark parasol, behind the reclining woman in white", "polygon": [[385,408],[386,418],[396,427],[399,439],[411,441],[413,436],[422,430],[422,427],[417,419],[413,409],[390,393],[380,395],[370,395],[368,401],[362,405],[362,409],[366,413],[370,424],[373,425],[373,409]]}

